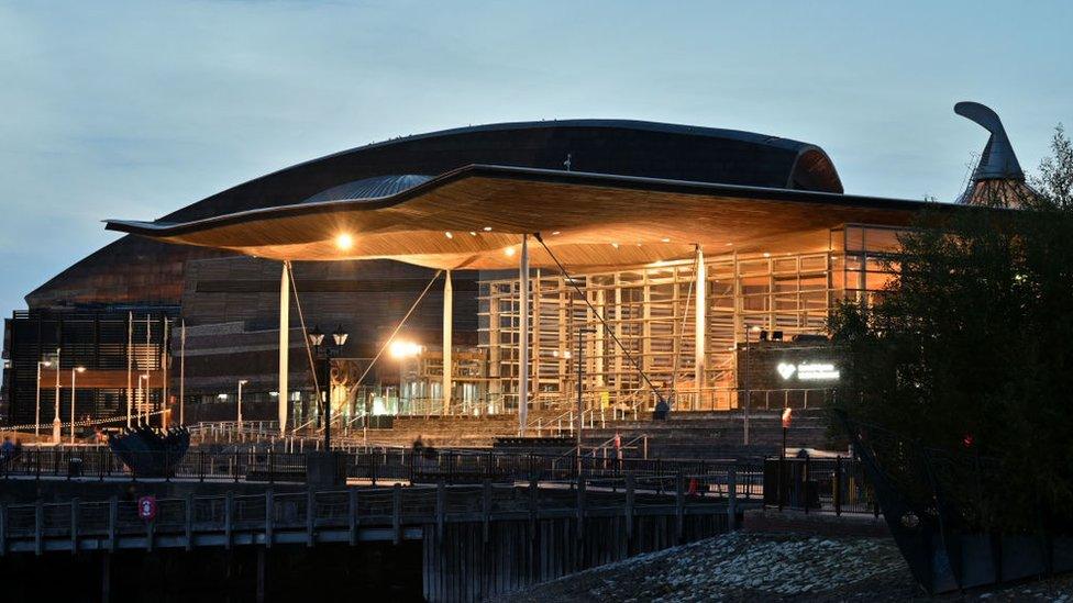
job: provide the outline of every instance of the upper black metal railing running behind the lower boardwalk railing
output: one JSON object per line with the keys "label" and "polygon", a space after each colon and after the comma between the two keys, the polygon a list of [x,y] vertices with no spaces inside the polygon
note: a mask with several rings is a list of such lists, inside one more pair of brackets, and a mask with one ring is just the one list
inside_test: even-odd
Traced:
{"label": "upper black metal railing running behind the lower boardwalk railing", "polygon": [[[314,453],[316,454],[316,453]],[[139,453],[163,467],[163,472],[139,473],[106,447],[25,448],[0,454],[3,479],[97,479],[132,481],[251,481],[296,482],[307,477],[309,453],[243,449],[218,451],[195,448],[181,457],[168,453]],[[763,495],[763,467],[734,460],[679,460],[594,458],[583,455],[541,455],[496,450],[367,448],[336,453],[339,472],[347,479],[378,483],[479,483],[517,481],[574,481],[579,476],[606,480],[617,488],[626,476],[654,490],[673,493],[683,488],[689,496],[727,496],[733,489],[739,500],[759,501]],[[135,462],[135,466],[141,465]]]}

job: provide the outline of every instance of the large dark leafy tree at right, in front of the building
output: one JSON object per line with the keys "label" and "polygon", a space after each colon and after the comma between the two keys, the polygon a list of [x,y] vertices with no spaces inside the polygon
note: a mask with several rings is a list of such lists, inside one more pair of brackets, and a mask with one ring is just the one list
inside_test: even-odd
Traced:
{"label": "large dark leafy tree at right, in front of the building", "polygon": [[[1055,129],[1020,205],[929,210],[899,237],[896,277],[843,303],[838,404],[918,446],[999,467],[989,522],[1073,513],[1073,146]],[[1007,190],[1008,192],[1008,190]]]}

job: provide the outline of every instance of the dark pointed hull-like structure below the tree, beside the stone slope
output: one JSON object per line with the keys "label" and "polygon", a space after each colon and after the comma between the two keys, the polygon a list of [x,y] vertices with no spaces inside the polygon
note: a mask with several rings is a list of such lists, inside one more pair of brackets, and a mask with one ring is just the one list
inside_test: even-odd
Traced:
{"label": "dark pointed hull-like structure below the tree, beside the stone slope", "polygon": [[1021,528],[997,524],[997,460],[916,445],[839,412],[891,534],[929,593],[1073,571],[1073,537],[1044,509],[1025,509]]}

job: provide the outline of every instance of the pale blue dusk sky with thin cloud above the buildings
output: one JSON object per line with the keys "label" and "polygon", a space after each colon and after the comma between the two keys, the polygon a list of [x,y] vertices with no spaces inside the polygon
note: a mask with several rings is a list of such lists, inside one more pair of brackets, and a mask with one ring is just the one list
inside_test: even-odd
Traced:
{"label": "pale blue dusk sky with thin cloud above the buildings", "polygon": [[0,0],[0,315],[150,220],[468,124],[621,118],[823,147],[847,192],[954,199],[998,112],[1073,127],[1073,3]]}

